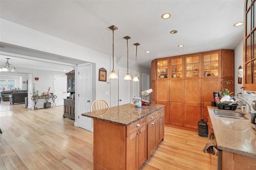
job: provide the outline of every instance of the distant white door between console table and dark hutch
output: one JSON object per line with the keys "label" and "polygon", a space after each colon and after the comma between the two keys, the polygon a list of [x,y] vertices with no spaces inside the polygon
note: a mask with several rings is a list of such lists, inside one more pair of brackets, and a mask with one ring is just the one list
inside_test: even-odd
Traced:
{"label": "distant white door between console table and dark hutch", "polygon": [[[63,106],[63,99],[67,97],[67,76],[55,76],[54,75],[54,95],[56,106]],[[50,90],[51,92],[51,90]]]}

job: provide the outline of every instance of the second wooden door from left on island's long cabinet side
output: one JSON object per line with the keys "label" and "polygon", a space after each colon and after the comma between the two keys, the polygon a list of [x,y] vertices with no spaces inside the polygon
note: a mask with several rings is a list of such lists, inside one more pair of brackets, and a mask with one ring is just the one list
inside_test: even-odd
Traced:
{"label": "second wooden door from left on island's long cabinet side", "polygon": [[138,169],[147,159],[147,126],[142,127],[138,133]]}

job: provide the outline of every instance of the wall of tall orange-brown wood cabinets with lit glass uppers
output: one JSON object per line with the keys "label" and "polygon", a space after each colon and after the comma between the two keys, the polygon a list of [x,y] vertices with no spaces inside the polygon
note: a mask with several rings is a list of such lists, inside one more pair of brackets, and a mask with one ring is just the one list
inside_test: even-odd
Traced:
{"label": "wall of tall orange-brown wood cabinets with lit glass uppers", "polygon": [[[164,104],[164,123],[198,129],[224,80],[234,82],[234,51],[214,50],[156,59],[151,63],[151,100]],[[234,83],[226,84],[234,92]],[[153,103],[153,102],[152,102]]]}

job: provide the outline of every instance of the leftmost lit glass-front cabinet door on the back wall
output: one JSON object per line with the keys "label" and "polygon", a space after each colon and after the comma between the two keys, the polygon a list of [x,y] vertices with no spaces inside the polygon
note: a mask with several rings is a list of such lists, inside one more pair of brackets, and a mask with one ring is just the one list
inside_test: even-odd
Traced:
{"label": "leftmost lit glass-front cabinet door on the back wall", "polygon": [[169,67],[168,67],[169,59],[159,59],[156,60],[156,80],[168,79],[169,75]]}

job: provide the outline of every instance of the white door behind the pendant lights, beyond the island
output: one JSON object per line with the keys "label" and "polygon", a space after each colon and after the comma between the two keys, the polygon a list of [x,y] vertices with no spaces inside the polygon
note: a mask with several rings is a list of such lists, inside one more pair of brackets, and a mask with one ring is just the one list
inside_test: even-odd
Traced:
{"label": "white door behind the pendant lights, beyond the island", "polygon": [[118,69],[118,106],[128,104],[131,102],[130,98],[130,81],[124,80],[126,70]]}

